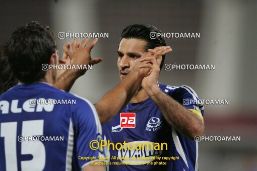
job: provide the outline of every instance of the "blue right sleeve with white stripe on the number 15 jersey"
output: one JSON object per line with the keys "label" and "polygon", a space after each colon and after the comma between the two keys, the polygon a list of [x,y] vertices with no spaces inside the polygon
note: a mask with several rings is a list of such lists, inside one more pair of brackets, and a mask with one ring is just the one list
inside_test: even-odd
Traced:
{"label": "blue right sleeve with white stripe on the number 15 jersey", "polygon": [[[96,109],[93,104],[85,100],[80,105],[75,114],[75,125],[76,125],[76,153],[80,168],[82,169],[85,165],[90,164],[92,161],[105,161],[100,159],[103,158],[104,151],[97,149],[92,150],[90,148],[90,142],[92,140],[100,142],[102,140],[102,128],[96,113]],[[97,146],[97,143],[94,144]],[[84,157],[84,159],[82,159]],[[85,157],[87,157],[85,159]]]}

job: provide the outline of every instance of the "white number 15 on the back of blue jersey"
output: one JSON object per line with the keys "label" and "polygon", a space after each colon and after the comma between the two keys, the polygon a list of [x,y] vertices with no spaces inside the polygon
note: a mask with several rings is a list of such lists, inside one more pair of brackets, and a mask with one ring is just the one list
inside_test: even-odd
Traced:
{"label": "white number 15 on the back of blue jersey", "polygon": [[[43,135],[44,120],[22,122],[22,136]],[[4,137],[6,170],[18,170],[17,164],[17,122],[1,123],[0,136]],[[21,161],[21,170],[43,170],[45,166],[45,147],[41,141],[21,142],[21,154],[33,155],[32,160]]]}

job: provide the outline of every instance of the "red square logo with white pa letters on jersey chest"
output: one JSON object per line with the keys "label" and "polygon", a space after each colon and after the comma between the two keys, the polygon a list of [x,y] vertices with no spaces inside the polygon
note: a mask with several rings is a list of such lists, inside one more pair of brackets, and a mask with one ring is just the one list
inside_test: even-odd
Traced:
{"label": "red square logo with white pa letters on jersey chest", "polygon": [[120,113],[120,127],[121,128],[135,128],[136,127],[136,113]]}

